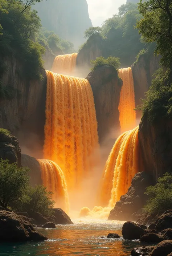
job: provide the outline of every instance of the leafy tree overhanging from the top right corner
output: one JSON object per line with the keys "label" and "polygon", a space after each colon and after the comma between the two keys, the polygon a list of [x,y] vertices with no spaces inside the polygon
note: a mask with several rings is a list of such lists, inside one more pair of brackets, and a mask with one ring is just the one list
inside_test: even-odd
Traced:
{"label": "leafy tree overhanging from the top right corner", "polygon": [[140,0],[139,11],[143,18],[137,28],[146,42],[156,42],[156,54],[160,54],[161,64],[169,68],[172,64],[172,1]]}

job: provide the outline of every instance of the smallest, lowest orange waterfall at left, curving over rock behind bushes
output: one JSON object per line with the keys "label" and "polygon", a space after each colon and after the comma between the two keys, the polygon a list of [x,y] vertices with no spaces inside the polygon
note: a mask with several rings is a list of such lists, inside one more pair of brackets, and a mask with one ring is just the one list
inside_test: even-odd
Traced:
{"label": "smallest, lowest orange waterfall at left, curving over rock behind bushes", "polygon": [[48,191],[52,191],[52,199],[56,207],[69,211],[69,199],[65,176],[61,168],[50,160],[37,159],[41,168],[41,178]]}

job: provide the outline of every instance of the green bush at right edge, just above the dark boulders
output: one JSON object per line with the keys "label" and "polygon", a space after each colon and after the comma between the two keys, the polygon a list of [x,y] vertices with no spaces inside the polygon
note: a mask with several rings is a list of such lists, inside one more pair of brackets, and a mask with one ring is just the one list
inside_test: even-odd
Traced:
{"label": "green bush at right edge, just above the dark boulders", "polygon": [[163,213],[172,209],[172,174],[166,172],[155,186],[147,187],[149,199],[143,210],[149,214]]}

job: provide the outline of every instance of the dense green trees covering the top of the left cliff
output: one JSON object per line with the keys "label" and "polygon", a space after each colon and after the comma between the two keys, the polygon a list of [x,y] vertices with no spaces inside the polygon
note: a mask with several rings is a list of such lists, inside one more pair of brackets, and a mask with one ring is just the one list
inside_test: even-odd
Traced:
{"label": "dense green trees covering the top of the left cliff", "polygon": [[0,0],[0,55],[21,60],[26,78],[41,78],[44,47],[35,40],[41,23],[36,11],[24,8],[20,0]]}

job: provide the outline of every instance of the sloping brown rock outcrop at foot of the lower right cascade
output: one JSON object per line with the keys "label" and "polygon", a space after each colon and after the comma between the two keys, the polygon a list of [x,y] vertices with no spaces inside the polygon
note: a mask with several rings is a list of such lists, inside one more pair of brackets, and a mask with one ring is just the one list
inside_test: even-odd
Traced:
{"label": "sloping brown rock outcrop at foot of the lower right cascade", "polygon": [[144,194],[146,188],[152,184],[152,177],[146,172],[138,172],[132,179],[127,194],[120,197],[111,210],[108,220],[136,220],[147,201]]}

